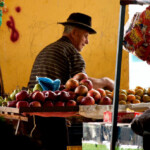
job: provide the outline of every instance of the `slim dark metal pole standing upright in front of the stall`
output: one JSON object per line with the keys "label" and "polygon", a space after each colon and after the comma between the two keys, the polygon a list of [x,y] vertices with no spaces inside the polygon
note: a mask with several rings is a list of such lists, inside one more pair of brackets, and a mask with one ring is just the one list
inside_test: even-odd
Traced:
{"label": "slim dark metal pole standing upright in front of the stall", "polygon": [[111,150],[115,150],[115,145],[118,136],[117,116],[118,116],[118,101],[119,101],[119,88],[120,88],[121,60],[122,60],[122,42],[123,42],[123,34],[124,34],[124,20],[125,20],[125,5],[120,5],[116,70],[115,70],[115,87],[114,87],[114,96],[113,96],[112,136],[111,136],[111,145],[110,145]]}

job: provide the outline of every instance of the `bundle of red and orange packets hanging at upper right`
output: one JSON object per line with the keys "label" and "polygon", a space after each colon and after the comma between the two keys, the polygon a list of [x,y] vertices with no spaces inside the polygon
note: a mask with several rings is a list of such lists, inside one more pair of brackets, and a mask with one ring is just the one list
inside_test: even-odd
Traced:
{"label": "bundle of red and orange packets hanging at upper right", "polygon": [[150,64],[150,6],[134,15],[123,45],[126,50]]}

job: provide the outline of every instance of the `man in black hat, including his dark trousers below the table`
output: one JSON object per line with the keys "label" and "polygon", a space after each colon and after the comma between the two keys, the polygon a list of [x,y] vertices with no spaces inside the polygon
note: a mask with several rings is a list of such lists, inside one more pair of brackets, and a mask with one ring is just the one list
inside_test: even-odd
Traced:
{"label": "man in black hat, including his dark trousers below the table", "polygon": [[[85,61],[80,52],[89,43],[89,34],[96,31],[91,27],[91,17],[82,13],[72,13],[64,25],[63,36],[56,42],[46,46],[36,57],[31,71],[29,88],[36,84],[36,76],[60,79],[62,84],[79,72],[85,72]],[[104,77],[89,77],[94,88],[102,87],[113,90],[113,80]],[[37,129],[46,149],[66,149],[67,132],[64,118],[36,117]]]}

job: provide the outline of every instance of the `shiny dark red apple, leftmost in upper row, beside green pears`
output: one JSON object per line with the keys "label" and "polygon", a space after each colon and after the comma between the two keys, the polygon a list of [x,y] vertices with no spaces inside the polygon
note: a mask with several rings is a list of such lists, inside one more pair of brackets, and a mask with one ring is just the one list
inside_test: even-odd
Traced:
{"label": "shiny dark red apple, leftmost in upper row, beside green pears", "polygon": [[27,99],[29,98],[29,94],[28,94],[27,91],[22,90],[22,91],[18,92],[18,93],[15,95],[15,97],[16,97],[16,100],[17,100],[17,101],[23,101],[23,100],[27,100]]}

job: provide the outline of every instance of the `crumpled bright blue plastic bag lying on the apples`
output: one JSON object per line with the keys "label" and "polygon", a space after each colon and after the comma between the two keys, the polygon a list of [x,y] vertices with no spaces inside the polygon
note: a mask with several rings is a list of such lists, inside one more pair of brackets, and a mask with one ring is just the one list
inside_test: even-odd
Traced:
{"label": "crumpled bright blue plastic bag lying on the apples", "polygon": [[61,83],[59,79],[52,80],[47,77],[36,77],[36,80],[41,85],[43,91],[56,91],[59,89]]}

